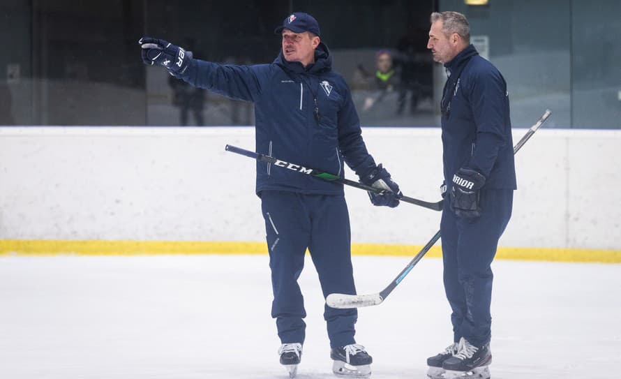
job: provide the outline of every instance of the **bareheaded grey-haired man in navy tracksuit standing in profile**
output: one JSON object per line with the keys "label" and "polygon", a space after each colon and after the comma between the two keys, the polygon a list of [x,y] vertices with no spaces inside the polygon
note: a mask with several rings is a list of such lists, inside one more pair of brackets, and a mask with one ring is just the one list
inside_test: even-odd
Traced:
{"label": "bareheaded grey-haired man in navy tracksuit standing in profile", "polygon": [[489,378],[491,262],[516,189],[507,83],[470,44],[470,25],[461,13],[432,13],[427,47],[449,75],[440,105],[440,232],[454,334],[448,348],[427,359],[428,376],[473,371],[477,378]]}

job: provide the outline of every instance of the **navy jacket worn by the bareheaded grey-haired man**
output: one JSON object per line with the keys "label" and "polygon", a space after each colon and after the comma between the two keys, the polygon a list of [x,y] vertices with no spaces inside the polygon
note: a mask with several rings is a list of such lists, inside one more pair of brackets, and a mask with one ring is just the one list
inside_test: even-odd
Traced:
{"label": "navy jacket worn by the bareheaded grey-haired man", "polygon": [[444,180],[450,191],[460,168],[486,177],[483,188],[516,189],[507,83],[473,45],[444,64],[442,97]]}

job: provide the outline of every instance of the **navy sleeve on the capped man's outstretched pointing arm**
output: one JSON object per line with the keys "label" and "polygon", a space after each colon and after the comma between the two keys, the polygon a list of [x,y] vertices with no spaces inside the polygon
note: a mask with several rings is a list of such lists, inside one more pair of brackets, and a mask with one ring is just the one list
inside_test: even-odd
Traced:
{"label": "navy sleeve on the capped man's outstretched pointing arm", "polygon": [[261,93],[260,73],[268,65],[237,66],[192,59],[179,78],[234,100],[255,101]]}

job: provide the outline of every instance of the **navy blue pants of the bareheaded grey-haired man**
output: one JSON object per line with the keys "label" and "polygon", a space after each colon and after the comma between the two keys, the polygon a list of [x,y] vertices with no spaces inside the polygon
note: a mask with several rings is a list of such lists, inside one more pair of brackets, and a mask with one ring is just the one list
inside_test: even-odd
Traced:
{"label": "navy blue pants of the bareheaded grey-haired man", "polygon": [[444,290],[453,311],[454,341],[464,337],[481,346],[491,339],[491,262],[511,218],[513,190],[481,191],[481,216],[474,220],[455,216],[449,203],[447,197],[440,232]]}

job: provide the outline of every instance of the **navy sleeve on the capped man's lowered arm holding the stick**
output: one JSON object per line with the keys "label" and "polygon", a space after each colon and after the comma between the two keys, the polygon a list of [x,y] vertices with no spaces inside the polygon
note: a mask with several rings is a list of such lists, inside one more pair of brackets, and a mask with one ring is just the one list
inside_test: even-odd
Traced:
{"label": "navy sleeve on the capped man's lowered arm holding the stick", "polygon": [[338,147],[343,153],[345,163],[358,177],[364,177],[375,168],[375,161],[373,156],[368,154],[362,140],[360,119],[347,84],[344,97],[343,107],[338,111]]}

